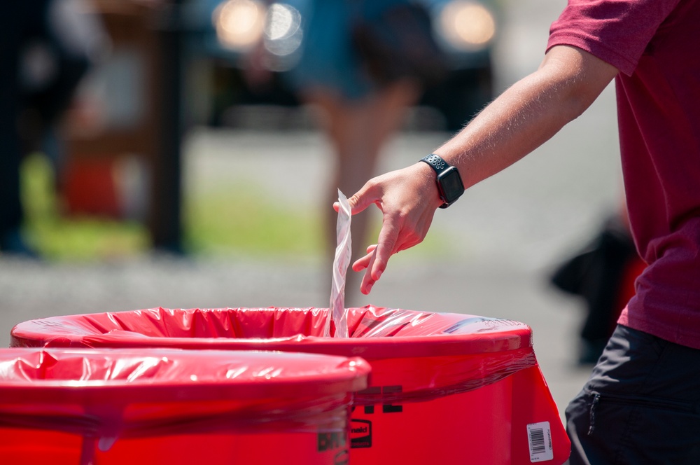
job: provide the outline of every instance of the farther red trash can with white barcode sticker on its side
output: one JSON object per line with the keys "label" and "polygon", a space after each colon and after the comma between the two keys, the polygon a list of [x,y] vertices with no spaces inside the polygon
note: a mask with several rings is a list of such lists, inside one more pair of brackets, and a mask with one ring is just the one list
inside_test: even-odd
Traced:
{"label": "farther red trash can with white barcode sticker on its side", "polygon": [[361,356],[372,366],[351,415],[351,463],[562,464],[570,442],[517,321],[367,306],[349,338],[328,309],[163,308],[18,324],[15,346],[267,349]]}

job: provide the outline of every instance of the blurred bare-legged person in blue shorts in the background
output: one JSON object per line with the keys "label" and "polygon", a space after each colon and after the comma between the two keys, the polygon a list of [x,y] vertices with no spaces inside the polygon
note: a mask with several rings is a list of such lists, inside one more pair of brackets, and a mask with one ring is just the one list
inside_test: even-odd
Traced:
{"label": "blurred bare-legged person in blue shorts in the background", "polygon": [[[311,0],[302,8],[304,39],[300,62],[288,73],[288,82],[300,100],[316,110],[318,124],[335,154],[326,198],[337,200],[337,189],[349,195],[374,175],[382,148],[404,122],[407,108],[421,95],[414,76],[379,81],[353,41],[358,20],[371,20],[408,0]],[[335,254],[337,215],[325,212],[329,260]],[[370,218],[353,218],[353,256],[364,254]],[[330,268],[329,268],[330,269]],[[358,282],[349,275],[347,302],[353,301]]]}

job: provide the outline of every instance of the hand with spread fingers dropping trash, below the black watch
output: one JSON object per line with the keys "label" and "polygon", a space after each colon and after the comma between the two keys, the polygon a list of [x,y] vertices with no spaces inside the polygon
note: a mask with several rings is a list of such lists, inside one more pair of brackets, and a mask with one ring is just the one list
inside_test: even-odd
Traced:
{"label": "hand with spread fingers dropping trash, below the black watch", "polygon": [[[366,270],[360,292],[368,294],[393,254],[423,241],[442,200],[435,186],[435,172],[426,163],[418,162],[370,179],[348,202],[352,214],[371,204],[376,204],[382,213],[377,244],[367,247],[367,255],[352,265],[353,271]],[[337,203],[334,208],[337,210]]]}

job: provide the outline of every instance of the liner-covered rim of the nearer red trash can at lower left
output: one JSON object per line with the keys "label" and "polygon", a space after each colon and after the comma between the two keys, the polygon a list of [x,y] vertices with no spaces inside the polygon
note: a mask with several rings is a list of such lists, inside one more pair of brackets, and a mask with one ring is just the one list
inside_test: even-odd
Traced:
{"label": "liner-covered rim of the nearer red trash can at lower left", "polygon": [[[42,357],[49,360],[38,362]],[[94,379],[76,380],[69,379],[69,376],[45,379],[31,373],[32,368],[63,369],[62,364],[70,370],[69,363],[74,364],[76,360],[103,365],[96,365],[92,371],[92,365],[86,369],[87,377],[94,375]],[[303,367],[295,367],[300,361]],[[126,378],[109,378],[111,369],[120,368],[120,362],[144,362],[146,366],[127,366],[134,368],[134,372],[143,371],[135,375],[130,373]],[[31,367],[31,363],[41,365]],[[260,369],[259,374],[253,372],[253,363],[258,364],[255,369]],[[65,401],[105,398],[110,392],[128,394],[130,402],[338,394],[364,389],[370,373],[369,363],[359,357],[177,348],[149,348],[147,351],[133,348],[0,349],[0,368],[0,399],[3,403],[10,398],[27,403],[47,396]],[[148,373],[149,368],[153,368],[153,373]],[[218,372],[207,373],[207,370]],[[222,370],[232,371],[222,375]],[[265,370],[269,373],[264,373]],[[85,378],[83,371],[80,375]]]}

